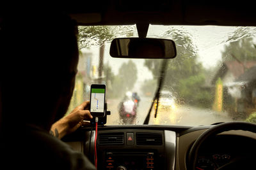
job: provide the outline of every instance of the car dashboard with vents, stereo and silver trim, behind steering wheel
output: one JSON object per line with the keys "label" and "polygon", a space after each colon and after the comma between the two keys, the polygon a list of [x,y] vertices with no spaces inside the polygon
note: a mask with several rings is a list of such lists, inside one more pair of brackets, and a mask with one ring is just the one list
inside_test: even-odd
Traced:
{"label": "car dashboard with vents, stereo and silver trim, behind steering wheel", "polygon": [[[212,126],[99,127],[97,169],[187,169],[191,146]],[[94,138],[95,129],[82,127],[63,141],[94,162]],[[200,147],[195,169],[218,169],[232,160],[246,157],[255,139],[253,132],[222,132]]]}

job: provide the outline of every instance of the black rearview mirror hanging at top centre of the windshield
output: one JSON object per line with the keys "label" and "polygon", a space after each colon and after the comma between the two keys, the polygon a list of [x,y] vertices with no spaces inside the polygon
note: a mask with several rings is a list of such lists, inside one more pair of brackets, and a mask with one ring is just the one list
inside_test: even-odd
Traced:
{"label": "black rearview mirror hanging at top centre of the windshield", "polygon": [[110,46],[111,57],[136,59],[173,59],[176,47],[171,39],[115,38]]}

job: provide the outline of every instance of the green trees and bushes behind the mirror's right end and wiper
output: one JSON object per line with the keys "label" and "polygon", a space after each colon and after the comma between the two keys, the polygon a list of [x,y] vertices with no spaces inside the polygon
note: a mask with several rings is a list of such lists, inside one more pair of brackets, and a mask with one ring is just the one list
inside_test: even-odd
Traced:
{"label": "green trees and bushes behind the mirror's right end and wiper", "polygon": [[[175,41],[177,57],[166,60],[168,66],[163,89],[177,94],[177,98],[184,98],[185,103],[209,108],[212,97],[210,92],[202,89],[205,83],[204,67],[196,60],[197,47],[191,35],[182,29],[170,27],[164,33],[164,38]],[[155,77],[159,77],[161,62],[162,60],[145,60],[145,66]]]}

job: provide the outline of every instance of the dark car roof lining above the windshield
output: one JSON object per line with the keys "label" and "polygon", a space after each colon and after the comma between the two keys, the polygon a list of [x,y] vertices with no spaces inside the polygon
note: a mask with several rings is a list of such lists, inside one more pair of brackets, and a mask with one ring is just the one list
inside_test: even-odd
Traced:
{"label": "dark car roof lining above the windshield", "polygon": [[[79,25],[256,25],[254,5],[234,1],[72,1],[65,9]],[[90,6],[90,8],[84,8]]]}

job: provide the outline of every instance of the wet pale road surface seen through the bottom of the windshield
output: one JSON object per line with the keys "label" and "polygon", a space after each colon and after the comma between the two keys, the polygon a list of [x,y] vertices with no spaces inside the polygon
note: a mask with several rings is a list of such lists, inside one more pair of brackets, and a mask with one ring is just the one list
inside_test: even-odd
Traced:
{"label": "wet pale road surface seen through the bottom of the windshield", "polygon": [[[118,104],[121,99],[109,99],[108,110],[111,115],[108,116],[107,125],[122,125],[122,121],[118,115]],[[136,125],[142,125],[147,117],[148,110],[152,99],[150,97],[141,97],[140,105],[138,106],[138,113]],[[216,122],[230,122],[231,118],[225,112],[216,112],[202,108],[195,108],[186,104],[175,106],[170,110],[157,111],[157,118],[154,118],[155,110],[152,110],[149,124],[156,125],[210,125]]]}

